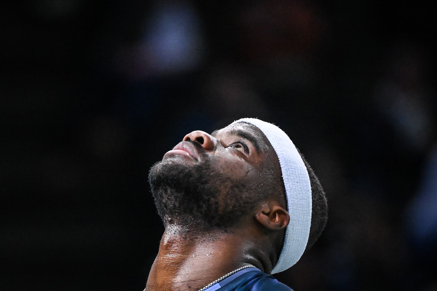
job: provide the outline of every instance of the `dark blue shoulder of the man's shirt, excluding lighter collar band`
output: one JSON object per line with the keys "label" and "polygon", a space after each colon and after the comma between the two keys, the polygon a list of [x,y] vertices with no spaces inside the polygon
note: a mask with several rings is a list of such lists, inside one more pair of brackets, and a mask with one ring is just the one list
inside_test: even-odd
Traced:
{"label": "dark blue shoulder of the man's shirt, excluding lighter collar band", "polygon": [[277,281],[273,276],[265,274],[260,270],[250,272],[245,276],[245,280],[240,282],[235,291],[293,291],[290,287]]}

